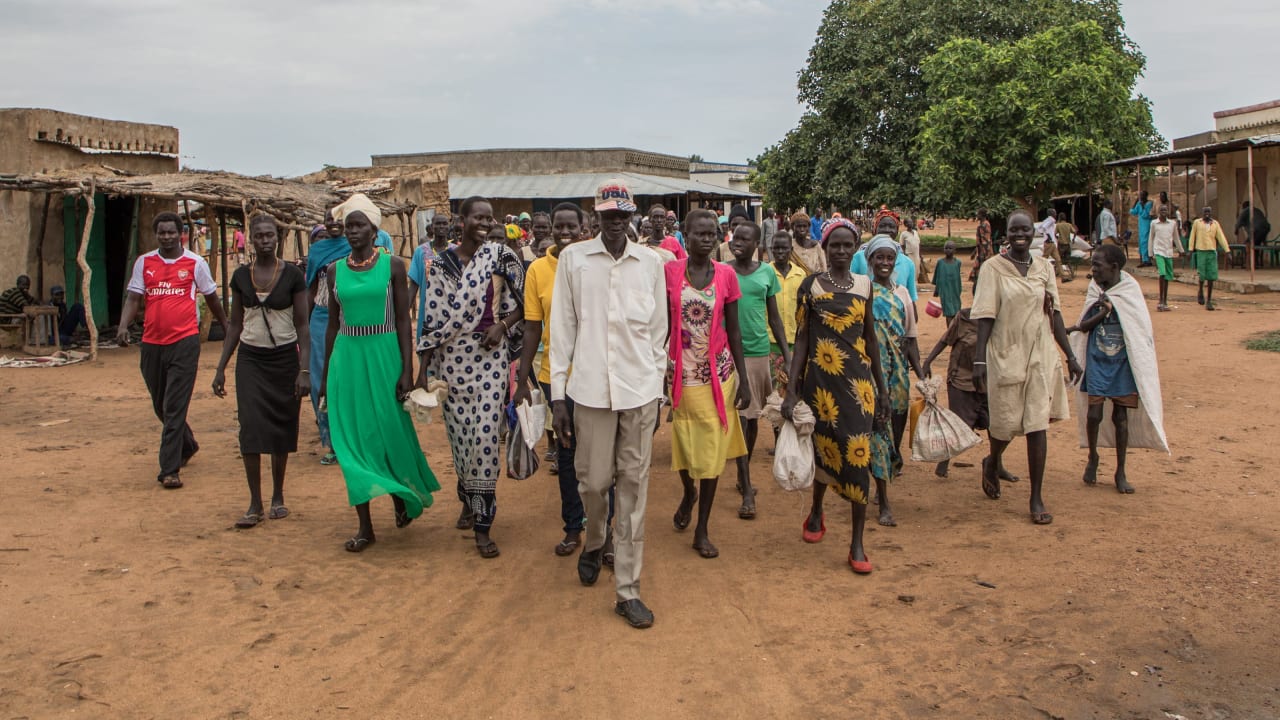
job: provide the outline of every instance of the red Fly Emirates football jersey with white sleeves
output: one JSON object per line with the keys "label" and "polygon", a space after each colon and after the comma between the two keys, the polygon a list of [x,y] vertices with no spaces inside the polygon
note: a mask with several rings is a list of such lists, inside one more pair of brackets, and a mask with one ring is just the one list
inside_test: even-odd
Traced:
{"label": "red Fly Emirates football jersey with white sleeves", "polygon": [[129,292],[137,292],[146,301],[142,342],[173,345],[198,333],[196,293],[209,295],[216,290],[209,263],[189,250],[173,260],[161,258],[159,250],[138,258],[133,264]]}

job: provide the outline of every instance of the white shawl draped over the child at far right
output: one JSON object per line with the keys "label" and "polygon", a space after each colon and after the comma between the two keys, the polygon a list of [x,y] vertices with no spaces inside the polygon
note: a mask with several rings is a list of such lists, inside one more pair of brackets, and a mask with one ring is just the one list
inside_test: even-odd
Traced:
{"label": "white shawl draped over the child at far right", "polygon": [[[1165,437],[1165,406],[1160,395],[1160,368],[1156,364],[1156,336],[1151,329],[1147,299],[1143,297],[1138,281],[1124,270],[1120,272],[1120,282],[1106,293],[1111,299],[1111,306],[1120,315],[1120,331],[1124,333],[1124,345],[1129,352],[1129,368],[1138,384],[1138,409],[1135,413],[1129,413],[1129,447],[1147,447],[1169,452],[1169,439]],[[1084,310],[1080,311],[1080,322],[1084,322],[1084,314],[1098,301],[1101,295],[1102,288],[1098,287],[1098,283],[1089,282],[1089,290],[1084,295]],[[1089,333],[1071,333],[1071,351],[1075,352],[1076,360],[1085,370],[1088,370],[1089,360],[1088,346]],[[1088,406],[1089,396],[1082,382],[1079,392],[1075,393],[1080,447],[1089,446],[1089,437],[1085,432]],[[1111,414],[1105,413],[1102,427],[1098,428],[1098,447],[1115,447],[1115,430]]]}

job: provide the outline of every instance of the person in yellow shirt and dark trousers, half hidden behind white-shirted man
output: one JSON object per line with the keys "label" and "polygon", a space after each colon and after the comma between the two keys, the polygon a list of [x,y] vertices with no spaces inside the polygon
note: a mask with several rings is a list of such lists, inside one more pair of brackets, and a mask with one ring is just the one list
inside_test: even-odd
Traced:
{"label": "person in yellow shirt and dark trousers, half hidden behind white-shirted man", "polygon": [[[538,368],[538,384],[543,391],[543,400],[550,402],[552,290],[556,286],[559,251],[581,238],[582,220],[584,213],[577,205],[572,202],[557,205],[550,218],[554,245],[525,270],[525,345],[520,354],[520,369],[516,370],[516,395],[512,397],[516,405],[529,400],[529,380],[539,346],[548,348],[548,352],[543,352],[541,366]],[[541,338],[541,342],[530,342],[535,337]],[[586,511],[582,507],[582,497],[577,493],[577,473],[573,468],[576,443],[571,438],[568,445],[554,443],[554,448],[557,455],[552,461],[552,474],[559,479],[561,519],[564,521],[564,539],[556,546],[556,555],[567,557],[573,555],[582,542]],[[612,552],[612,546],[605,550]]]}

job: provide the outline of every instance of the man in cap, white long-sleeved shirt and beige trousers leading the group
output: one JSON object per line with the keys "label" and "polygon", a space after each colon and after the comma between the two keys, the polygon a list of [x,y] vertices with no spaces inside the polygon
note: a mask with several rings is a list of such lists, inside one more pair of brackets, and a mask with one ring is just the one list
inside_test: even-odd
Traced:
{"label": "man in cap, white long-sleeved shirt and beige trousers leading the group", "polygon": [[[586,541],[579,579],[595,584],[614,487],[614,611],[632,628],[653,625],[640,601],[644,511],[653,429],[667,368],[663,263],[630,242],[631,191],[613,179],[595,191],[600,234],[559,254],[552,293],[552,413],[556,434],[576,439]],[[572,366],[572,373],[570,373]],[[572,415],[564,402],[573,400]]]}

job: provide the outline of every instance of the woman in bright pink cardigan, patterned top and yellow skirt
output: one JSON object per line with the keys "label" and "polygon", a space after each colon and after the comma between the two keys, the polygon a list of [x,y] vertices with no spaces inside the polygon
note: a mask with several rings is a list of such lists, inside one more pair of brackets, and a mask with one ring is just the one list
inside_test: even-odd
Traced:
{"label": "woman in bright pink cardigan, patterned top and yellow skirt", "polygon": [[[737,327],[742,293],[733,269],[710,259],[718,243],[716,215],[694,210],[685,218],[689,258],[666,266],[668,354],[675,370],[671,466],[685,484],[673,523],[677,530],[686,529],[698,501],[694,550],[707,559],[719,555],[707,537],[716,483],[727,460],[746,455],[737,415],[748,405],[748,388],[740,382],[746,361]],[[700,488],[694,487],[694,478]]]}

